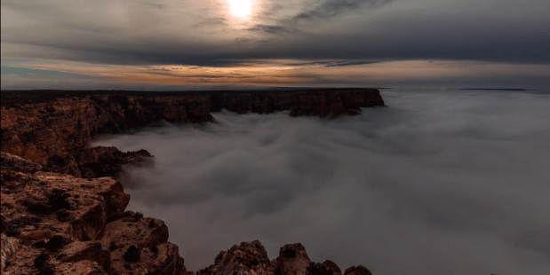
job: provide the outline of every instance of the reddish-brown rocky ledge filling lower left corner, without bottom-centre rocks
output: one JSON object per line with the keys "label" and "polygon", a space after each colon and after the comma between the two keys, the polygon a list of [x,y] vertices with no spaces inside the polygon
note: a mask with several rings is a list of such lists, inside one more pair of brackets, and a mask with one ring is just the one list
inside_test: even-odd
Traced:
{"label": "reddish-brown rocky ledge filling lower left corner, without bottom-centre rocks", "polygon": [[3,274],[187,275],[166,225],[124,212],[130,195],[115,179],[10,168],[1,170]]}

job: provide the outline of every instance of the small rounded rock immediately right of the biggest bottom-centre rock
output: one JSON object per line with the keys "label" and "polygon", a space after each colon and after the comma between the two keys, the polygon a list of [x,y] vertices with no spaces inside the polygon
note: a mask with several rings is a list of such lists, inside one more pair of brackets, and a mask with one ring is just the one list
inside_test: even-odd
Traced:
{"label": "small rounded rock immediately right of the biggest bottom-centre rock", "polygon": [[281,275],[306,275],[311,260],[301,243],[289,244],[279,249],[279,256],[273,261]]}

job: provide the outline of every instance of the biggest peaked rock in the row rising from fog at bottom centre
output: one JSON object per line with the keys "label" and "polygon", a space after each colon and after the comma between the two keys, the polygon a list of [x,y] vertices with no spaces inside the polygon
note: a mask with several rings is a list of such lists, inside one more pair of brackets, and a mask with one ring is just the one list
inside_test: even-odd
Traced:
{"label": "biggest peaked rock in the row rising from fog at bottom centre", "polygon": [[196,275],[247,275],[274,274],[274,268],[267,258],[266,248],[259,240],[242,242],[227,251],[219,252],[214,264],[196,271]]}

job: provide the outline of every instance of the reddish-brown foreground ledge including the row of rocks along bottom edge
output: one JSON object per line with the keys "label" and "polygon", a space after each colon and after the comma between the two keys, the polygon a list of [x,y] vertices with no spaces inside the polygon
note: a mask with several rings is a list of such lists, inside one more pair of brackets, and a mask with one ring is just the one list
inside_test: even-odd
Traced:
{"label": "reddish-brown foreground ledge including the row of rocks along bottom edge", "polygon": [[[163,221],[125,211],[130,195],[112,177],[78,178],[2,153],[2,274],[166,274],[187,271]],[[301,244],[274,260],[258,240],[219,252],[196,275],[342,275],[312,262]],[[346,275],[371,275],[352,266]]]}

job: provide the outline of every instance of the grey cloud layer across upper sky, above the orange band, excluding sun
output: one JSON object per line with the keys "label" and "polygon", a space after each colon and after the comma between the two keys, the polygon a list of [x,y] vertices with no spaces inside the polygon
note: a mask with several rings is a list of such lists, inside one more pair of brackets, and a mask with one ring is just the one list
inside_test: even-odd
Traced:
{"label": "grey cloud layer across upper sky, above the orange band, excluding sun", "polygon": [[246,59],[550,63],[543,1],[327,0],[294,12],[283,3],[243,26],[221,4],[147,3],[3,1],[3,58],[197,66]]}

